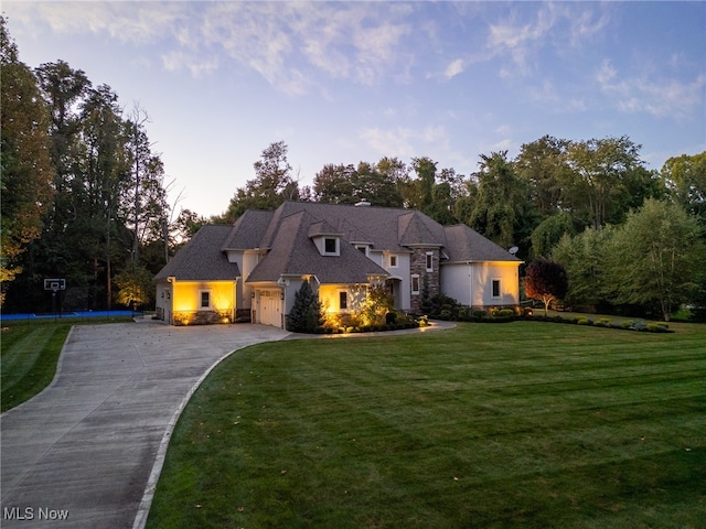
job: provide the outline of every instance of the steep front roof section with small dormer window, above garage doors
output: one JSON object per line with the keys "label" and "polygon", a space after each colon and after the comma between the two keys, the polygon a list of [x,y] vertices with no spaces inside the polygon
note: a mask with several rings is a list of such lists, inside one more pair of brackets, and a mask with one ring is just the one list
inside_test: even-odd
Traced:
{"label": "steep front roof section with small dormer window, above garage doors", "polygon": [[370,276],[388,276],[383,268],[344,240],[339,246],[340,256],[322,256],[309,235],[312,226],[319,223],[308,210],[281,218],[271,250],[246,281],[271,282],[282,276],[314,274],[321,283],[351,284],[367,283]]}

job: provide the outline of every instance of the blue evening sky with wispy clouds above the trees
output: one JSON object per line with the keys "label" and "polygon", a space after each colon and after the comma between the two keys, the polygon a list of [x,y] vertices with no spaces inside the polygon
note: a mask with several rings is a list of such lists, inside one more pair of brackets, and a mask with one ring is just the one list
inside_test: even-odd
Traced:
{"label": "blue evening sky with wispy clouds above the trees", "polygon": [[329,163],[628,136],[649,169],[706,150],[706,2],[12,1],[30,67],[139,106],[178,214],[220,215],[277,141]]}

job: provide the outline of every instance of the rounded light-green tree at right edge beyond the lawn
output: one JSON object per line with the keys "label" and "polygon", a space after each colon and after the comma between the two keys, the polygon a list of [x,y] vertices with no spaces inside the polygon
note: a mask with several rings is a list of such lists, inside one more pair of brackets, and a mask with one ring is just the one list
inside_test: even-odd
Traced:
{"label": "rounded light-green tree at right edge beyond the lawn", "polygon": [[617,301],[657,304],[668,321],[682,303],[697,296],[706,248],[694,216],[677,204],[651,198],[618,230],[611,261]]}

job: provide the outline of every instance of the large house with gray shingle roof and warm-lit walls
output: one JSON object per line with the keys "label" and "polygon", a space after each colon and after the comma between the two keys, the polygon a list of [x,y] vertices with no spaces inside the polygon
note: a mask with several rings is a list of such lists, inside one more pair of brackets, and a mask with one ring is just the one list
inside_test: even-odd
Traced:
{"label": "large house with gray shingle roof and warm-lit walls", "polygon": [[516,306],[521,262],[468,226],[417,210],[286,202],[202,227],[157,274],[157,313],[175,325],[284,327],[304,280],[329,313],[355,311],[376,284],[413,313],[425,289],[474,307]]}

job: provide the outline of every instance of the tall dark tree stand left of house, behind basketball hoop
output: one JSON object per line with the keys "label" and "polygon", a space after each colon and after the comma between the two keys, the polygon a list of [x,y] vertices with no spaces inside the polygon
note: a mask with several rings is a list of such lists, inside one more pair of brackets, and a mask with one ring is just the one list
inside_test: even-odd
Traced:
{"label": "tall dark tree stand left of house, behind basketball hoop", "polygon": [[29,68],[3,18],[0,45],[3,310],[47,311],[46,278],[65,310],[147,302],[179,227],[147,112],[63,61]]}

